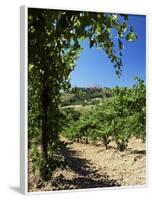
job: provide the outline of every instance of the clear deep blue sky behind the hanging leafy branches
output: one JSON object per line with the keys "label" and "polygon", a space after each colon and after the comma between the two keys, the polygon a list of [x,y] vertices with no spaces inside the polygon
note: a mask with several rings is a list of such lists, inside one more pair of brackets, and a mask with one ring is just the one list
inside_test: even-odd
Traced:
{"label": "clear deep blue sky behind the hanging leafy branches", "polygon": [[113,64],[102,49],[89,48],[88,40],[82,46],[83,51],[71,73],[71,84],[77,87],[114,87],[132,86],[133,78],[146,79],[146,17],[129,15],[129,23],[138,35],[136,42],[124,42],[122,56],[122,75],[118,78]]}

